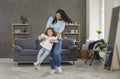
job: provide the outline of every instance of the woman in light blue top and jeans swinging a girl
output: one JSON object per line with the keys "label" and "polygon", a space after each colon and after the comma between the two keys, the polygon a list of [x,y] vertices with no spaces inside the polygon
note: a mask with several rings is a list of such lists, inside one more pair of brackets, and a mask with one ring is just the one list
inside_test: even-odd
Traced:
{"label": "woman in light blue top and jeans swinging a girl", "polygon": [[61,33],[65,29],[65,23],[72,23],[71,19],[67,16],[63,9],[58,9],[56,11],[55,17],[50,17],[47,22],[46,28],[53,28],[57,33],[58,43],[54,44],[49,61],[51,66],[51,74],[54,74],[57,69],[58,73],[62,73],[61,69],[61,47],[62,47],[62,38]]}

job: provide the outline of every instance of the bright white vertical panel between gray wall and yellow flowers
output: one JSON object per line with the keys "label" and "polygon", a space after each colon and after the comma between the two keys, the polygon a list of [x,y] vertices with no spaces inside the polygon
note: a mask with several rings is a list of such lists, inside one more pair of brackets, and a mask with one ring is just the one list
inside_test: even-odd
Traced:
{"label": "bright white vertical panel between gray wall and yellow flowers", "polygon": [[87,39],[97,40],[97,29],[101,29],[101,0],[87,0]]}

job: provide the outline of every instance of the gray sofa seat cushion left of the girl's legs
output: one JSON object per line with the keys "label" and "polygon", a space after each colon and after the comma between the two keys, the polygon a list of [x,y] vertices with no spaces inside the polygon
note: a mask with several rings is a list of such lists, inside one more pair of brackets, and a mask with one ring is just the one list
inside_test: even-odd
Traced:
{"label": "gray sofa seat cushion left of the girl's legs", "polygon": [[38,51],[35,49],[24,49],[19,52],[21,56],[35,56],[38,54]]}

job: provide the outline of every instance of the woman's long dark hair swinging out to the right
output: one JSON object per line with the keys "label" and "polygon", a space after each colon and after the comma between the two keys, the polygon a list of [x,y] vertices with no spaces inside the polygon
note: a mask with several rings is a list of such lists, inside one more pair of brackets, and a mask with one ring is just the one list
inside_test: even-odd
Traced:
{"label": "woman's long dark hair swinging out to the right", "polygon": [[[64,20],[66,23],[72,23],[72,20],[68,17],[68,15],[65,13],[65,11],[63,9],[58,9],[56,11],[56,14],[59,13],[62,17],[62,20]],[[52,24],[57,23],[57,18],[55,16],[55,18],[53,19]]]}

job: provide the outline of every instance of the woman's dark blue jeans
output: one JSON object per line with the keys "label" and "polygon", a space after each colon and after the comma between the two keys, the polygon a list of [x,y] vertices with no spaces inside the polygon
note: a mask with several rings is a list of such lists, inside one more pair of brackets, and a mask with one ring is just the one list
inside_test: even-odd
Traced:
{"label": "woman's dark blue jeans", "polygon": [[53,45],[53,48],[50,52],[49,60],[51,69],[55,69],[55,67],[59,67],[61,65],[61,47],[62,47],[62,39],[58,39],[58,43]]}

